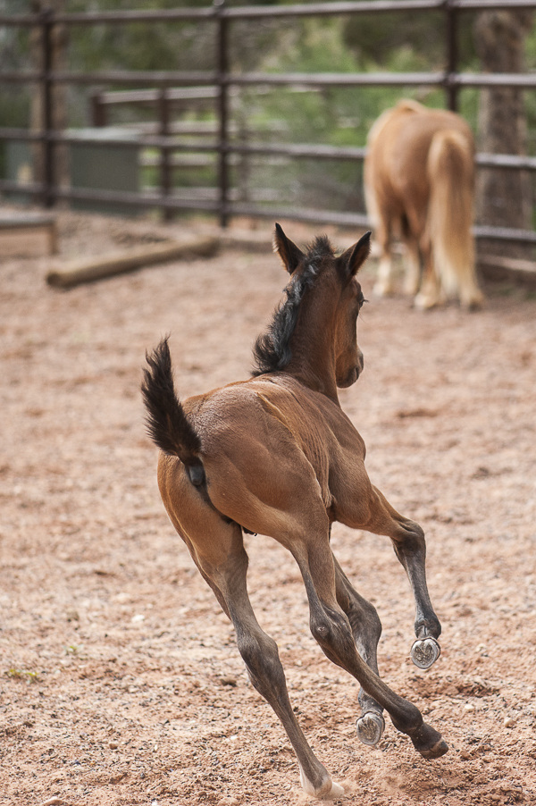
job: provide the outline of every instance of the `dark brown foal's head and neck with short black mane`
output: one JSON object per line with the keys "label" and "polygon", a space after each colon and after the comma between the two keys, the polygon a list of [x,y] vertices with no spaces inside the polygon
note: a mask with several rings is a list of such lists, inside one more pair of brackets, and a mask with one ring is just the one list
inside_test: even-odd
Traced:
{"label": "dark brown foal's head and neck with short black mane", "polygon": [[331,372],[341,388],[356,382],[363,370],[356,321],[364,303],[356,273],[369,254],[370,236],[336,256],[325,236],[302,252],[275,225],[274,248],[290,281],[269,331],[255,344],[255,375],[306,365],[316,374]]}

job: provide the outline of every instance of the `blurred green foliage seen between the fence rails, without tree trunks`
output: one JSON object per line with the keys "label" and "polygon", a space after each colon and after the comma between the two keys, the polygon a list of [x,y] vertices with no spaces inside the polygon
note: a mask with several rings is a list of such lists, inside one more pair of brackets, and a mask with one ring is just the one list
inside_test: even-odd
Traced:
{"label": "blurred green foliage seen between the fence rails, without tree trunks", "polygon": [[[247,0],[277,4],[281,0]],[[29,10],[29,0],[0,0],[4,11]],[[244,4],[228,0],[228,5]],[[94,0],[92,11],[151,10],[206,7],[209,0]],[[65,0],[67,12],[88,10],[87,0]],[[459,70],[478,71],[473,45],[473,13],[458,17]],[[440,71],[446,63],[444,13],[380,13],[333,18],[289,18],[233,21],[230,66],[233,71],[273,72],[404,72]],[[0,48],[0,68],[29,66],[28,34],[8,32]],[[527,66],[536,68],[536,31],[526,42]],[[214,70],[214,23],[166,22],[69,28],[68,68],[105,70]],[[107,89],[113,89],[107,87]],[[70,124],[87,125],[89,88],[70,89]],[[536,130],[536,95],[525,93],[529,129]],[[241,88],[233,96],[231,125],[237,139],[263,143],[324,143],[363,147],[373,122],[401,97],[443,107],[446,94],[431,87],[364,88]],[[479,93],[459,93],[460,112],[476,130]],[[28,122],[29,97],[20,88],[0,91],[0,118],[6,125]],[[214,110],[197,112],[197,120],[214,119]],[[184,119],[184,113],[183,117]],[[111,122],[155,120],[154,108],[121,107]],[[531,135],[536,153],[536,137]],[[0,149],[0,172],[2,152]],[[337,160],[241,158],[232,171],[239,195],[246,185],[252,197],[286,204],[363,210],[362,165]],[[143,168],[144,184],[157,184],[159,169]],[[214,166],[180,169],[174,182],[181,187],[214,185]]]}

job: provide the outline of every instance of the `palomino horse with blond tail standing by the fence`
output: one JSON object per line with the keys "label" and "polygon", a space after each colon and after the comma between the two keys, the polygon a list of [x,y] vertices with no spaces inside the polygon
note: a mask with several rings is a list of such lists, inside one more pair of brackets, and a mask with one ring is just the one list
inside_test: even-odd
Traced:
{"label": "palomino horse with blond tail standing by the fence", "polygon": [[[473,134],[459,115],[400,101],[368,138],[364,194],[380,248],[374,292],[392,291],[392,239],[406,244],[406,292],[429,308],[482,304],[474,270]],[[421,284],[421,264],[423,282]]]}

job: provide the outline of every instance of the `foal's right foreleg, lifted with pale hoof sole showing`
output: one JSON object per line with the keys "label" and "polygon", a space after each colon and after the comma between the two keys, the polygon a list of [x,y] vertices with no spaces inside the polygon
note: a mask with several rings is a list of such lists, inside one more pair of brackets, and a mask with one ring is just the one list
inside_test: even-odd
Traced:
{"label": "foal's right foreleg, lifted with pale hoof sole showing", "polygon": [[426,542],[421,526],[398,514],[381,492],[373,487],[371,518],[363,525],[367,532],[387,534],[401,565],[405,568],[415,598],[415,641],[411,659],[415,666],[427,669],[440,657],[437,639],[441,634],[426,584]]}

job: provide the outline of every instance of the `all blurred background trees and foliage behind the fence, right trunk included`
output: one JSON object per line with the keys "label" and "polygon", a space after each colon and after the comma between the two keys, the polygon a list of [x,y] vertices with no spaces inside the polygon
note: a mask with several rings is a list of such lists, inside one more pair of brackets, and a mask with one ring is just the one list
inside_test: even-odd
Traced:
{"label": "all blurred background trees and foliage behind the fence, right trunk included", "polygon": [[[255,4],[255,0],[249,0]],[[267,4],[270,0],[262,0]],[[278,0],[272,0],[277,4]],[[118,9],[165,9],[206,6],[205,0],[0,0],[2,13],[21,13],[40,4],[62,4],[67,12]],[[231,5],[243,3],[230,0]],[[502,15],[502,16],[501,16]],[[523,71],[536,67],[536,32],[529,13],[464,13],[459,25],[460,71]],[[64,37],[63,61],[68,69],[211,70],[215,64],[214,27],[210,22],[131,23],[72,26]],[[355,17],[236,21],[230,25],[233,71],[440,71],[446,63],[444,16],[441,13],[371,14]],[[0,33],[0,70],[28,68],[29,34],[17,29]],[[107,87],[106,89],[112,89]],[[364,146],[374,120],[399,97],[415,97],[426,105],[444,106],[438,88],[240,88],[233,92],[233,136],[248,142],[326,143]],[[66,89],[58,125],[90,123],[90,88]],[[510,93],[510,95],[508,95]],[[531,91],[464,89],[460,112],[470,122],[481,150],[536,153],[536,99]],[[480,105],[479,105],[480,97]],[[61,107],[61,104],[60,104]],[[508,110],[505,112],[505,110]],[[188,111],[186,117],[188,117]],[[194,113],[191,113],[194,115]],[[502,115],[502,118],[501,118]],[[0,88],[4,125],[36,125],[38,102],[15,85]],[[117,124],[155,119],[149,108],[118,107]],[[194,115],[195,116],[195,115]],[[208,120],[209,110],[201,113]],[[199,113],[197,113],[199,118]],[[502,121],[502,122],[501,122]],[[513,123],[515,122],[515,123]],[[515,130],[515,137],[514,137]],[[150,162],[150,160],[149,160]],[[146,179],[151,169],[147,168]],[[175,183],[214,183],[215,167],[175,172]],[[241,179],[239,172],[242,172]],[[285,204],[364,210],[362,167],[343,161],[289,161],[251,158],[239,161],[235,184],[247,185],[264,200]],[[153,171],[154,173],[154,171]],[[517,182],[517,185],[515,185]],[[532,226],[532,180],[519,172],[486,171],[480,180],[482,222]],[[246,192],[246,191],[244,191]],[[515,197],[514,206],[504,197]],[[501,201],[500,199],[503,199]]]}

